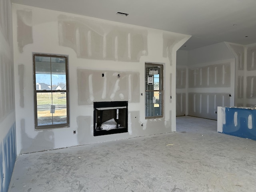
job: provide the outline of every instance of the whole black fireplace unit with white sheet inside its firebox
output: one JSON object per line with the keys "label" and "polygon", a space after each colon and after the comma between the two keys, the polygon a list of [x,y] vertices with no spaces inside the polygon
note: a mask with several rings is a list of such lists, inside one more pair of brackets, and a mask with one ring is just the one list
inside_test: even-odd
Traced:
{"label": "whole black fireplace unit with white sheet inside its firebox", "polygon": [[94,102],[94,136],[128,132],[128,101]]}

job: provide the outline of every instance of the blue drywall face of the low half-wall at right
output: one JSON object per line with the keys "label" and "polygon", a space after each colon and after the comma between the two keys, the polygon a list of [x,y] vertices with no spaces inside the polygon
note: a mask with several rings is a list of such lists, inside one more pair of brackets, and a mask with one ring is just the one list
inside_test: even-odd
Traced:
{"label": "blue drywall face of the low half-wall at right", "polygon": [[[237,126],[234,123],[234,114],[237,112]],[[226,124],[223,124],[222,133],[256,140],[256,110],[244,108],[226,108]],[[248,127],[248,117],[252,116],[252,127]]]}

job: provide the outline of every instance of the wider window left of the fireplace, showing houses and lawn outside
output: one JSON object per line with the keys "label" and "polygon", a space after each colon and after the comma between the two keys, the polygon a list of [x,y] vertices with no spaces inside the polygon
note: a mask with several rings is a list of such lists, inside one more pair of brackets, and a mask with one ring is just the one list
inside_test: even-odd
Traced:
{"label": "wider window left of the fireplace, showing houses and lawn outside", "polygon": [[69,126],[68,56],[33,54],[35,128]]}

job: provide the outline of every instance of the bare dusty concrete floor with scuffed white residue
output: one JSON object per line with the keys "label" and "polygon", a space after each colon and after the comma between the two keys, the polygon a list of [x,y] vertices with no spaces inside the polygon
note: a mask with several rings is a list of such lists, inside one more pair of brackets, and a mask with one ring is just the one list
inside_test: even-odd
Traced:
{"label": "bare dusty concrete floor with scuffed white residue", "polygon": [[9,192],[255,192],[256,141],[178,117],[177,132],[24,154]]}

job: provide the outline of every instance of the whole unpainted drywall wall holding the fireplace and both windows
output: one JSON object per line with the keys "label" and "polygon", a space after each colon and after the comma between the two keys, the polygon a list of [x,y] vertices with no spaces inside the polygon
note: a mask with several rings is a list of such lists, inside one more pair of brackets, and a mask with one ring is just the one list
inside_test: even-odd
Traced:
{"label": "whole unpainted drywall wall holding the fireplace and both windows", "polygon": [[[169,98],[175,94],[176,51],[190,36],[20,4],[13,4],[13,26],[18,153],[176,130],[175,97]],[[34,129],[33,52],[68,56],[68,128]],[[164,64],[161,119],[145,119],[145,62]],[[93,136],[93,102],[116,100],[128,101],[128,132]]]}

